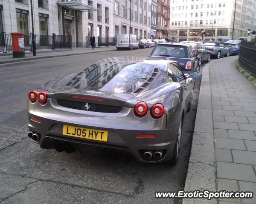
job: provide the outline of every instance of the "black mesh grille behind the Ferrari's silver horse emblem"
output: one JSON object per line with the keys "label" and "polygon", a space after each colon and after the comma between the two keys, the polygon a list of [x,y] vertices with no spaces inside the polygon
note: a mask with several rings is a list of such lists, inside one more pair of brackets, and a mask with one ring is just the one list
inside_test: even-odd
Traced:
{"label": "black mesh grille behind the Ferrari's silver horse emblem", "polygon": [[76,101],[69,101],[64,99],[57,99],[58,105],[66,107],[66,108],[73,108],[77,110],[83,111],[94,111],[94,112],[101,112],[101,113],[119,113],[122,107],[113,106],[113,105],[100,105],[100,104],[93,104],[88,103],[90,108],[86,110],[86,102],[76,102]]}

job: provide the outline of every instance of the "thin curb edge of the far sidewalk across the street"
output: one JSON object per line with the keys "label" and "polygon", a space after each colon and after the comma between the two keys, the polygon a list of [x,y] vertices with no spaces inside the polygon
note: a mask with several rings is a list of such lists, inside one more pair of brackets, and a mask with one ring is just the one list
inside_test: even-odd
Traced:
{"label": "thin curb edge of the far sidewalk across the street", "polygon": [[54,58],[54,57],[66,57],[66,56],[81,55],[81,54],[92,54],[92,53],[99,53],[99,52],[109,52],[109,51],[114,51],[114,50],[116,50],[116,48],[113,48],[111,50],[102,50],[102,51],[95,51],[95,52],[60,54],[60,55],[54,55],[54,56],[48,55],[48,56],[41,56],[41,57],[28,57],[28,58],[20,58],[20,59],[0,61],[0,64],[15,63],[15,62],[25,62],[25,61],[35,60],[35,59],[46,59],[46,58]]}

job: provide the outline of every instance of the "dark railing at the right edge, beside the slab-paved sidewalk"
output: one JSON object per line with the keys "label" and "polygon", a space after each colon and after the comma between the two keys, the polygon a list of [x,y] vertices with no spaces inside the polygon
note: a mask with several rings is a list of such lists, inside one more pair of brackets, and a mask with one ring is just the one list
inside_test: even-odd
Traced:
{"label": "dark railing at the right edge, beside the slab-paved sidewalk", "polygon": [[256,76],[256,42],[241,41],[239,63]]}

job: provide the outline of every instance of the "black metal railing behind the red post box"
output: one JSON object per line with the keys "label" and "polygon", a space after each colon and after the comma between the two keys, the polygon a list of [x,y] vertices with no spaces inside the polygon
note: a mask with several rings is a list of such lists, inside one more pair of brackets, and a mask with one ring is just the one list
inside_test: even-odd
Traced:
{"label": "black metal railing behind the red post box", "polygon": [[[32,35],[24,35],[25,51],[32,51]],[[71,35],[35,35],[36,50],[72,48]],[[0,34],[0,53],[12,52],[12,35]]]}

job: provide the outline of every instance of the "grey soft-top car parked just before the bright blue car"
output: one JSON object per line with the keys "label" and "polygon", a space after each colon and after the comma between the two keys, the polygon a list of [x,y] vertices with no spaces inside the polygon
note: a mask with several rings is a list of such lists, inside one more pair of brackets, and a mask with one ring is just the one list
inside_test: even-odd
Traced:
{"label": "grey soft-top car parked just before the bright blue car", "polygon": [[220,42],[204,42],[204,46],[210,51],[212,57],[219,59],[221,56],[229,56],[229,49],[225,48]]}

